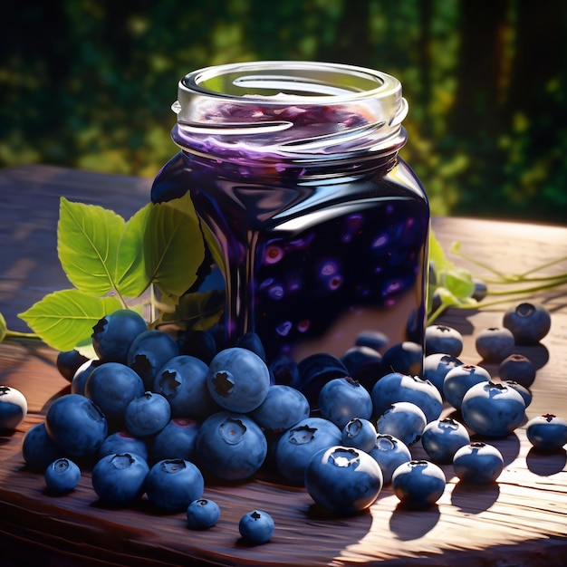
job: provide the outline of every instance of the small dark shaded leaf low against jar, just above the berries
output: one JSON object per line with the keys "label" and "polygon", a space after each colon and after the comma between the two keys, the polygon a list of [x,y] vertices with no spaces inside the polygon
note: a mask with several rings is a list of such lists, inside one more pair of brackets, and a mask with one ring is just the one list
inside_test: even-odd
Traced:
{"label": "small dark shaded leaf low against jar, just above the berries", "polygon": [[187,329],[207,331],[218,322],[224,309],[223,291],[187,293],[179,299],[174,312],[161,312],[158,324],[178,323]]}

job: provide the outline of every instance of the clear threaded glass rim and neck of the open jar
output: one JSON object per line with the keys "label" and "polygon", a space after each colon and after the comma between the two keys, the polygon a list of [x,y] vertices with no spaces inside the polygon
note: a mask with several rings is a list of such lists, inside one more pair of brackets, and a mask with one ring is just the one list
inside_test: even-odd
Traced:
{"label": "clear threaded glass rim and neck of the open jar", "polygon": [[182,148],[206,142],[223,153],[238,146],[284,158],[376,152],[393,138],[399,146],[408,104],[400,82],[384,72],[264,61],[189,72],[171,108],[178,115],[173,139]]}

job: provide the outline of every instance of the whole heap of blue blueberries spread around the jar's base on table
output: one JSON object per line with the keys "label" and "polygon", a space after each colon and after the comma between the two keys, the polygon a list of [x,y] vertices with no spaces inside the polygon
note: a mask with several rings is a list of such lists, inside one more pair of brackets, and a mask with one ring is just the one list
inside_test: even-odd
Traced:
{"label": "whole heap of blue blueberries spread around the jar's base on table", "polygon": [[[376,333],[361,333],[341,359],[266,360],[255,333],[218,348],[212,332],[149,330],[137,313],[120,310],[93,327],[98,360],[59,356],[71,393],[28,430],[24,461],[44,471],[53,494],[71,492],[90,467],[102,502],[126,506],[146,495],[163,513],[185,512],[190,529],[220,517],[204,495],[208,482],[256,474],[304,486],[335,514],[369,507],[384,485],[402,505],[424,508],[445,490],[441,465],[471,483],[495,482],[502,472],[503,456],[486,440],[523,422],[535,375],[530,360],[503,345],[508,333],[513,350],[516,338],[540,341],[549,330],[544,315],[523,303],[506,312],[505,332],[479,333],[479,354],[500,362],[493,379],[458,359],[462,336],[442,325],[426,330],[419,377],[418,345],[388,348]],[[25,415],[18,393],[0,388],[3,428]],[[447,406],[456,417],[441,418]],[[567,443],[567,420],[539,416],[526,433],[537,450],[555,451]],[[412,457],[418,444],[428,460]],[[254,510],[238,529],[245,541],[264,543],[274,520]]]}

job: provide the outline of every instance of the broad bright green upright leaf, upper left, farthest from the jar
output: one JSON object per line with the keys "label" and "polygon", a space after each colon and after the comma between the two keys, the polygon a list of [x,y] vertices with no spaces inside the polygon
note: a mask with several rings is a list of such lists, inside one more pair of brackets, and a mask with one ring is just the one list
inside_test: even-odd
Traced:
{"label": "broad bright green upright leaf, upper left, farthest from the jar", "polygon": [[115,287],[118,245],[126,221],[111,210],[61,198],[57,252],[69,281],[91,295]]}

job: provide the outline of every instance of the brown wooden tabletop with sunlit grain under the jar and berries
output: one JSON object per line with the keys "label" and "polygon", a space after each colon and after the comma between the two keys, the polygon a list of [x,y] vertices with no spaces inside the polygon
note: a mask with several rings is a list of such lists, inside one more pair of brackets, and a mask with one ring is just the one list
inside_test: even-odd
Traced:
{"label": "brown wooden tabletop with sunlit grain under the jar and berries", "polygon": [[[69,286],[56,253],[59,197],[128,217],[148,201],[150,183],[43,166],[0,171],[0,312],[11,329],[25,331],[17,313]],[[443,245],[459,240],[468,254],[504,271],[567,255],[563,227],[439,217],[433,227]],[[541,345],[519,350],[538,368],[526,416],[566,416],[567,295],[563,288],[540,299],[553,313],[553,326]],[[463,361],[480,362],[474,334],[501,326],[503,309],[450,311],[439,320],[463,333]],[[44,495],[43,477],[24,467],[20,447],[50,399],[67,391],[55,357],[34,341],[0,344],[0,383],[20,389],[29,402],[24,423],[0,437],[2,565],[566,564],[567,457],[564,450],[548,456],[530,450],[524,428],[494,442],[505,456],[496,485],[460,485],[452,467],[444,466],[445,494],[437,506],[420,512],[401,509],[386,487],[366,513],[334,518],[317,513],[303,489],[255,479],[207,486],[206,495],[223,514],[215,528],[201,533],[187,530],[184,514],[158,515],[143,502],[135,509],[105,508],[86,471],[71,495]],[[495,373],[494,365],[486,368]],[[420,447],[412,452],[425,455]],[[248,546],[239,542],[237,522],[255,507],[273,514],[277,527],[270,543]]]}

